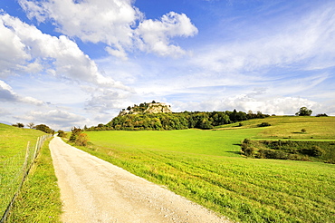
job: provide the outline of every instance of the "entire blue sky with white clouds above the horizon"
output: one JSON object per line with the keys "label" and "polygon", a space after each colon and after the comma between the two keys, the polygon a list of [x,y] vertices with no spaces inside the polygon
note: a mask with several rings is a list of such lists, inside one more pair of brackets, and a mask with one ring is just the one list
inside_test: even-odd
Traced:
{"label": "entire blue sky with white clouds above the horizon", "polygon": [[330,0],[2,0],[0,121],[69,130],[123,108],[335,115]]}

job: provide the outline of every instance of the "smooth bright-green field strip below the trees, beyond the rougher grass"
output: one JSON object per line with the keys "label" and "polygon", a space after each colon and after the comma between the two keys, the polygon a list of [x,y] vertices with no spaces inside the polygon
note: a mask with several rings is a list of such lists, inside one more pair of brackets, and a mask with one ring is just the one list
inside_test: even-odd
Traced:
{"label": "smooth bright-green field strip below the trees, beyond the rougher grass", "polygon": [[215,156],[239,156],[241,139],[261,129],[228,131],[88,131],[94,144],[119,150],[166,150]]}

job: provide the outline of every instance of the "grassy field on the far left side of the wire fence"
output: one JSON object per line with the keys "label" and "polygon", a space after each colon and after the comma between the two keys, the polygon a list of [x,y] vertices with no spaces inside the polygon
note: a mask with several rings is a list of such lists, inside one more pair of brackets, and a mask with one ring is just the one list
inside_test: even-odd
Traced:
{"label": "grassy field on the far left side of the wire fence", "polygon": [[12,207],[14,198],[32,166],[42,138],[46,136],[42,131],[0,124],[1,221],[5,220]]}

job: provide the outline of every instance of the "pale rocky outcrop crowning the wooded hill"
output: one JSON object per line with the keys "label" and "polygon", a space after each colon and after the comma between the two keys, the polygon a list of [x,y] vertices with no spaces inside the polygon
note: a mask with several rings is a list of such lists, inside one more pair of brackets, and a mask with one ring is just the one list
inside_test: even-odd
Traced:
{"label": "pale rocky outcrop crowning the wooded hill", "polygon": [[119,116],[127,114],[148,114],[148,113],[172,113],[171,106],[166,103],[141,103],[134,105],[134,107],[128,107],[127,110],[123,109],[120,111]]}

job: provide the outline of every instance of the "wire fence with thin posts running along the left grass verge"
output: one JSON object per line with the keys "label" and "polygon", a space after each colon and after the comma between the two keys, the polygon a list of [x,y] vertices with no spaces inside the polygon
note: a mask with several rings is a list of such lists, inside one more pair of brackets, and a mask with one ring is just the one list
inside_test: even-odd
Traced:
{"label": "wire fence with thin posts running along the left grass verge", "polygon": [[0,213],[3,213],[0,223],[5,222],[43,142],[50,137],[52,135],[40,136],[33,145],[28,141],[26,149],[0,162]]}

